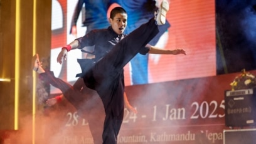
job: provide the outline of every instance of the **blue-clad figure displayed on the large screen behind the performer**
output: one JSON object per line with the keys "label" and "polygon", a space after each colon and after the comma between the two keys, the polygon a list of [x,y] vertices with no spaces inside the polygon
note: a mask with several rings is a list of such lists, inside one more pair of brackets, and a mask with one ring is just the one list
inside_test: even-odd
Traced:
{"label": "blue-clad figure displayed on the large screen behind the performer", "polygon": [[[157,9],[156,0],[114,0],[114,1],[103,1],[100,4],[99,0],[88,1],[88,0],[78,0],[77,5],[72,16],[72,23],[70,28],[70,33],[73,36],[77,36],[77,20],[80,12],[83,9],[83,4],[85,4],[85,18],[82,21],[82,26],[86,26],[87,30],[85,34],[90,32],[92,29],[102,29],[109,25],[107,21],[107,9],[110,8],[112,4],[119,4],[122,8],[127,11],[129,19],[127,19],[127,27],[125,28],[125,33],[131,33],[134,29],[141,26],[141,24],[146,23],[149,19],[154,16],[154,12]],[[161,36],[167,36],[167,30],[170,27],[168,21],[165,24],[159,26],[159,33],[149,42],[152,46],[159,43]],[[166,43],[166,41],[161,41],[161,43]],[[83,58],[94,58],[93,51],[94,46],[86,46],[83,48],[85,51],[89,52],[83,55]],[[137,54],[131,60],[130,71],[131,71],[131,85],[141,85],[149,83],[148,80],[148,61],[149,54],[143,56]]]}

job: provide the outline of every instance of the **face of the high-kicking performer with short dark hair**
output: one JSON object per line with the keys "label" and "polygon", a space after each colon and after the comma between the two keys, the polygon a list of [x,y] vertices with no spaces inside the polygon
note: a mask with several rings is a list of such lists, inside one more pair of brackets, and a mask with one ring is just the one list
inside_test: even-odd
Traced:
{"label": "face of the high-kicking performer with short dark hair", "polygon": [[115,14],[114,18],[109,18],[109,22],[112,26],[112,29],[117,34],[124,33],[124,29],[126,28],[127,24],[127,14],[125,13],[117,13]]}

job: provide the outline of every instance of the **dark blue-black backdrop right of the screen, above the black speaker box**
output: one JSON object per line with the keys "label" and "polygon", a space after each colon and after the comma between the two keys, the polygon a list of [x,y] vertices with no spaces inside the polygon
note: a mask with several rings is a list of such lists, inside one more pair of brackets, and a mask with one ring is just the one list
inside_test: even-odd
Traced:
{"label": "dark blue-black backdrop right of the screen, above the black speaker box", "polygon": [[256,68],[256,1],[216,0],[217,75]]}

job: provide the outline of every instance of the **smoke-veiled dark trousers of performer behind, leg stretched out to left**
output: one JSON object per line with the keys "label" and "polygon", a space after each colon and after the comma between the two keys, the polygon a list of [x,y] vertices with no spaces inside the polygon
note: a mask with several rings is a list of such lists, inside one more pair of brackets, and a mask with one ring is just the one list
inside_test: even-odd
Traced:
{"label": "smoke-veiled dark trousers of performer behind, leg stretched out to left", "polygon": [[61,90],[65,98],[77,109],[80,118],[88,121],[94,143],[102,144],[105,112],[97,92],[87,88],[82,78],[78,78],[73,86],[56,78],[52,71],[41,73],[40,78]]}

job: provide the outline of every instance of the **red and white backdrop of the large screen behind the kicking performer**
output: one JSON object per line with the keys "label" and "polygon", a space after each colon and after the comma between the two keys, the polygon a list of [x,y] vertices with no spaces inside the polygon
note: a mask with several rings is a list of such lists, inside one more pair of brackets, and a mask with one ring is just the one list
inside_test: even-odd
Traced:
{"label": "red and white backdrop of the large screen behind the kicking performer", "polygon": [[[63,64],[57,63],[56,57],[62,46],[83,36],[88,28],[82,24],[86,11],[83,5],[77,20],[77,37],[70,34],[72,16],[77,2],[73,0],[52,1],[51,70],[54,71],[56,77],[68,83],[74,83],[77,80],[75,76],[81,71],[77,58],[83,58],[83,53],[80,49],[68,52],[67,61]],[[106,11],[108,12],[114,6],[118,4],[112,4]],[[183,48],[187,55],[149,54],[148,65],[146,65],[147,81],[142,84],[215,76],[215,1],[171,1],[169,7],[167,21],[171,26],[166,29],[166,33],[161,36],[156,45],[163,49]],[[127,13],[132,12],[127,10]],[[106,21],[107,17],[106,15],[102,18],[102,21]],[[132,19],[128,16],[129,18]],[[128,25],[132,24],[128,23]],[[131,63],[127,64],[124,69],[125,85],[136,85],[131,75],[140,72],[133,71]],[[136,79],[140,78],[139,76]],[[60,91],[51,88],[51,93],[60,93]]]}

